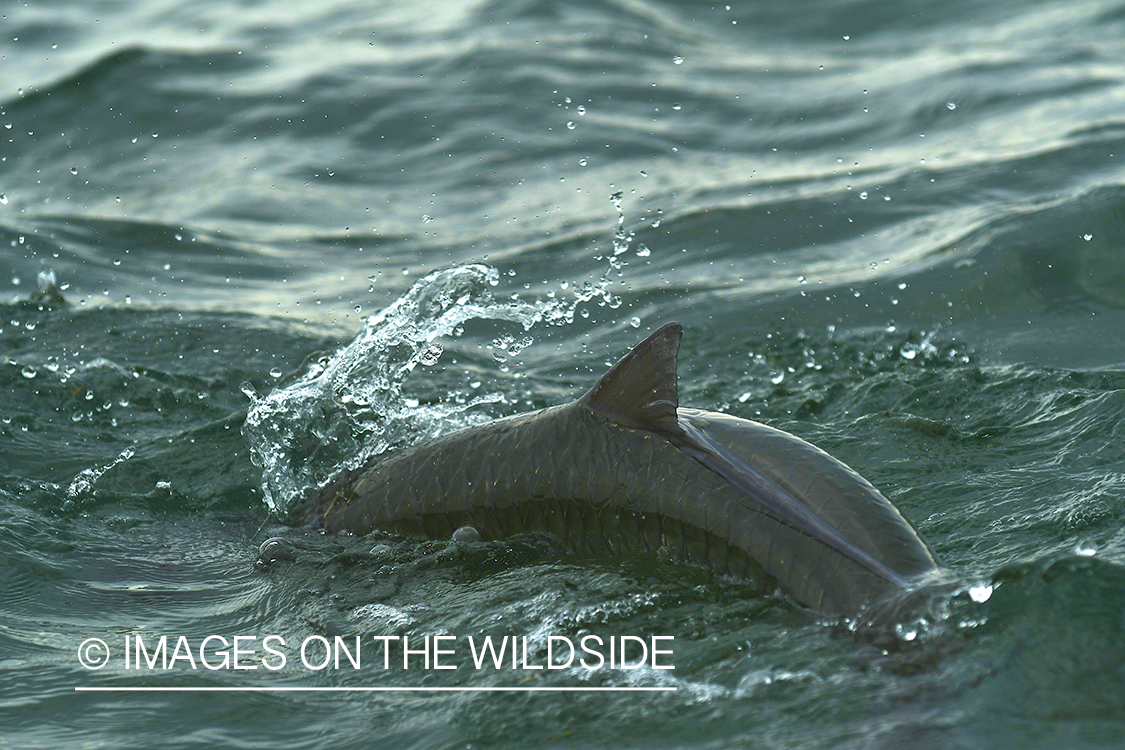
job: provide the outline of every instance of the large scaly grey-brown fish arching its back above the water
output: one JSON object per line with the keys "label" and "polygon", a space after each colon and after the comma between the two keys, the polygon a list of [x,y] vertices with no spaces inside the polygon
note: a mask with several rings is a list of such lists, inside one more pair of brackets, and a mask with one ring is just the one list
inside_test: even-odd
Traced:
{"label": "large scaly grey-brown fish arching its back above the water", "polygon": [[576,555],[656,554],[850,616],[938,571],[878,489],[804,440],[680,406],[668,323],[577,400],[342,471],[289,523],[435,540],[548,534]]}

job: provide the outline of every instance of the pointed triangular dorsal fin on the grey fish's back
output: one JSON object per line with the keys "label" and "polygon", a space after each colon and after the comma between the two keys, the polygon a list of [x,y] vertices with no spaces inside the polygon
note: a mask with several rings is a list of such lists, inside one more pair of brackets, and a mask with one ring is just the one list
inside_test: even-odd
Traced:
{"label": "pointed triangular dorsal fin on the grey fish's back", "polygon": [[578,403],[627,427],[680,434],[676,354],[684,328],[662,326],[610,368]]}

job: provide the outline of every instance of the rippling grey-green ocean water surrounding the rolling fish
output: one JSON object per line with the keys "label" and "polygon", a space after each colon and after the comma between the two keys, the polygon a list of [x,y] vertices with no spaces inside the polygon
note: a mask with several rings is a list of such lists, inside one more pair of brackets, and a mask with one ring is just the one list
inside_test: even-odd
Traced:
{"label": "rippling grey-green ocean water surrounding the rolling fish", "polygon": [[[0,746],[1123,746],[1125,3],[0,28]],[[277,522],[673,319],[682,404],[844,460],[963,586],[873,633],[640,557]],[[486,634],[529,663],[477,668]],[[439,635],[453,669],[376,649]],[[552,635],[672,636],[675,669],[524,668]],[[318,668],[338,636],[360,668]],[[672,689],[304,689],[358,687]]]}

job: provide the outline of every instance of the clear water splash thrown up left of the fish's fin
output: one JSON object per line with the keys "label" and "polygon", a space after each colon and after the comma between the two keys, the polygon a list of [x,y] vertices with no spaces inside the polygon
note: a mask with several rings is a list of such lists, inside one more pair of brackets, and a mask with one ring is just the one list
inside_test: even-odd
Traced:
{"label": "clear water splash thrown up left of the fish's fin", "polygon": [[[544,299],[497,298],[493,289],[500,283],[500,272],[486,265],[434,271],[369,317],[348,345],[309,364],[295,382],[266,397],[244,386],[252,405],[242,433],[254,464],[262,470],[270,509],[284,515],[291,503],[335,471],[435,435],[451,422],[469,424],[475,418],[466,409],[503,400],[500,394],[485,394],[462,404],[421,407],[403,398],[402,388],[416,365],[438,361],[443,351],[438,340],[460,335],[468,320],[507,320],[526,332],[537,324],[573,323],[579,306],[592,300],[620,307],[620,298],[609,287],[610,274],[620,275],[616,249],[621,242],[622,237],[614,237],[615,253],[598,281],[584,282],[568,295],[551,292]],[[505,335],[502,341],[506,355],[532,343],[530,336]]]}

